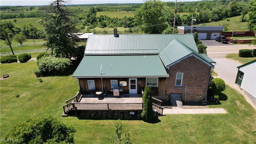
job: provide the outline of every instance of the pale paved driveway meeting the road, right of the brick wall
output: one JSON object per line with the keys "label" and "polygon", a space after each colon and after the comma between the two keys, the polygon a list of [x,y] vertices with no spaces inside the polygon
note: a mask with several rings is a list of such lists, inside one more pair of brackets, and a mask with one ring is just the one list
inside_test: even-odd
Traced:
{"label": "pale paved driveway meeting the road, right of the brick wall", "polygon": [[217,73],[217,77],[222,78],[226,84],[237,90],[240,94],[244,95],[244,98],[255,109],[256,105],[240,90],[235,84],[236,75],[238,72],[238,66],[242,64],[236,60],[226,58],[226,54],[238,53],[240,49],[255,49],[255,46],[249,45],[234,45],[234,44],[218,44],[215,40],[202,40],[207,46],[207,55],[216,62],[214,70]]}

